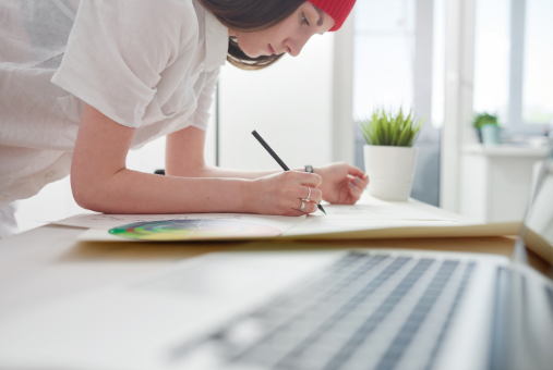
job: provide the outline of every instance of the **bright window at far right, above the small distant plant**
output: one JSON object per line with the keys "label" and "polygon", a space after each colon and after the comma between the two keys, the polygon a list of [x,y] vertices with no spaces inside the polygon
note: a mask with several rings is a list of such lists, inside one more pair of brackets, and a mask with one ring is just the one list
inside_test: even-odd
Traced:
{"label": "bright window at far right, above the small distant plant", "polygon": [[551,0],[477,1],[473,110],[510,134],[553,123],[552,18]]}

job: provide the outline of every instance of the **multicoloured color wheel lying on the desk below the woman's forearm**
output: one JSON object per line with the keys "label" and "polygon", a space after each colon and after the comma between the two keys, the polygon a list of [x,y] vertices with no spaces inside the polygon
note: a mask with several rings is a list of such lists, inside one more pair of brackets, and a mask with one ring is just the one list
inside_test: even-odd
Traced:
{"label": "multicoloured color wheel lying on the desk below the woman's forearm", "polygon": [[280,230],[228,220],[163,220],[117,226],[110,234],[141,240],[202,240],[280,235]]}

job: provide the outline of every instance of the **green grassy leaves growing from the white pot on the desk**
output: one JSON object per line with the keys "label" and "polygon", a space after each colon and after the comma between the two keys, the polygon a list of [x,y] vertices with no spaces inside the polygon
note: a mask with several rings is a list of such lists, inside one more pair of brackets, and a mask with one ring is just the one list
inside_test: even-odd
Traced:
{"label": "green grassy leaves growing from the white pot on the desk", "polygon": [[411,147],[423,122],[424,119],[414,122],[412,109],[407,118],[404,118],[401,108],[397,114],[392,110],[386,112],[384,108],[377,108],[371,120],[359,120],[366,144],[396,147]]}

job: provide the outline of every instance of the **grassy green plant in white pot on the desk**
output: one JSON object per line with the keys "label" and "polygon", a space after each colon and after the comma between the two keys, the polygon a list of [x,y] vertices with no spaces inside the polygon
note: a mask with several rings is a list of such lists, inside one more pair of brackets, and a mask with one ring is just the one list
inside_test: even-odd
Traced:
{"label": "grassy green plant in white pot on the desk", "polygon": [[418,149],[412,148],[424,119],[376,109],[369,120],[360,120],[366,145],[364,165],[371,180],[369,194],[384,200],[407,200],[411,194]]}

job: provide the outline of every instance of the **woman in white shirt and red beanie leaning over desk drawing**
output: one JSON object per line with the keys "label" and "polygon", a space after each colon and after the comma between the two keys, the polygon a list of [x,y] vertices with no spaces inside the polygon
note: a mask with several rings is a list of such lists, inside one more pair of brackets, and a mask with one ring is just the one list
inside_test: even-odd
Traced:
{"label": "woman in white shirt and red beanie leaning over desk drawing", "polygon": [[[369,180],[346,163],[285,173],[203,159],[225,61],[257,70],[296,57],[354,1],[0,0],[1,222],[70,172],[76,202],[100,212],[301,215],[321,199],[354,203]],[[167,176],[128,170],[129,149],[159,136]]]}

